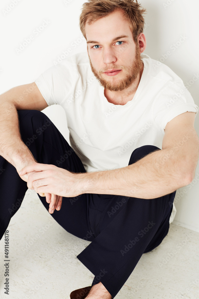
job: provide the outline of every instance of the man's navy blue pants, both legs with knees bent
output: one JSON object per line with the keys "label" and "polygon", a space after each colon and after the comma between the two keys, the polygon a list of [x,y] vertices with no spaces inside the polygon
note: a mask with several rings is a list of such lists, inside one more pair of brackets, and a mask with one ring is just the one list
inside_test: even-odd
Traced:
{"label": "man's navy blue pants, both legs with knees bent", "polygon": [[[18,117],[21,138],[38,163],[86,172],[80,158],[43,112],[19,110]],[[152,145],[135,149],[129,164],[158,149]],[[1,239],[28,187],[2,156],[0,169]],[[84,193],[63,197],[61,210],[51,216],[69,233],[92,241],[77,258],[95,275],[92,286],[101,281],[114,298],[142,254],[157,247],[167,235],[175,193],[155,199]],[[39,198],[48,210],[46,198]]]}

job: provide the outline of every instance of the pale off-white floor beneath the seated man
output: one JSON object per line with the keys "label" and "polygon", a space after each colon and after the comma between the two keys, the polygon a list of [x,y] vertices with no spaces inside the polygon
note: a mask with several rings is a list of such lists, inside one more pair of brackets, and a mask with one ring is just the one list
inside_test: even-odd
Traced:
{"label": "pale off-white floor beneath the seated man", "polygon": [[[27,190],[8,230],[10,291],[4,294],[1,239],[0,298],[68,299],[73,290],[92,284],[94,275],[76,258],[90,241],[65,231],[34,190]],[[199,299],[199,234],[171,224],[162,243],[142,255],[115,298]]]}

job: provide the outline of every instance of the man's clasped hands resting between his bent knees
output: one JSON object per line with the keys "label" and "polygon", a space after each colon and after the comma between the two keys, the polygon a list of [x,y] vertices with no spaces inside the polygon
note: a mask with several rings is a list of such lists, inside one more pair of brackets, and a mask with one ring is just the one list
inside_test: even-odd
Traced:
{"label": "man's clasped hands resting between his bent knees", "polygon": [[[53,164],[34,162],[18,171],[19,176],[28,175],[27,187],[34,189],[40,196],[46,196],[49,203],[49,213],[60,210],[62,197],[74,197],[86,193],[81,187],[81,173],[72,173]],[[84,175],[84,173],[82,173]]]}

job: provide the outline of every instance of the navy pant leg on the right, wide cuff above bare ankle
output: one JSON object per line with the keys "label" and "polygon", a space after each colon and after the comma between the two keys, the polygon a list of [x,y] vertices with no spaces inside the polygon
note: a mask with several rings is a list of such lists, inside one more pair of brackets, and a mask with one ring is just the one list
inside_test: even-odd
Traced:
{"label": "navy pant leg on the right, wide cuff above bare ankle", "polygon": [[[152,145],[135,149],[129,164],[157,149]],[[175,193],[155,199],[112,196],[97,226],[97,237],[77,256],[95,275],[92,286],[101,281],[112,298],[117,295],[142,254],[157,247],[166,236],[172,210],[169,203]],[[119,208],[114,211],[116,205]]]}

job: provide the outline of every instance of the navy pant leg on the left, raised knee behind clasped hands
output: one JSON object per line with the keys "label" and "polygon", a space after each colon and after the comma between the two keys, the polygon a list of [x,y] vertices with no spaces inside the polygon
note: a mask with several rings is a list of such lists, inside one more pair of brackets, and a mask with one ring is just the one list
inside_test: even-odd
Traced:
{"label": "navy pant leg on the left, raised knee behind clasped hands", "polygon": [[[53,164],[75,173],[84,173],[80,158],[52,123],[37,110],[19,110],[19,126],[22,141],[39,163]],[[16,168],[0,156],[0,239],[7,229],[10,219],[18,211],[28,189]],[[39,195],[38,195],[39,196]],[[48,210],[46,197],[39,196]],[[61,209],[50,214],[66,231],[84,238],[90,231],[88,222],[88,194],[77,197],[63,197]],[[89,239],[90,240],[90,239]]]}

